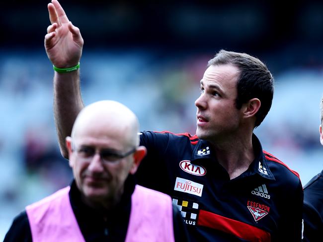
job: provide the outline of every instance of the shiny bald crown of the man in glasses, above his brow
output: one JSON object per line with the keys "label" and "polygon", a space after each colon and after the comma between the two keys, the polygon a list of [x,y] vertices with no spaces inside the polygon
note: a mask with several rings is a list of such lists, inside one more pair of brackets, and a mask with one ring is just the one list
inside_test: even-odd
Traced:
{"label": "shiny bald crown of the man in glasses, above his brow", "polygon": [[121,103],[104,100],[83,108],[72,129],[72,138],[86,134],[104,139],[113,137],[125,147],[139,145],[139,122],[135,114]]}

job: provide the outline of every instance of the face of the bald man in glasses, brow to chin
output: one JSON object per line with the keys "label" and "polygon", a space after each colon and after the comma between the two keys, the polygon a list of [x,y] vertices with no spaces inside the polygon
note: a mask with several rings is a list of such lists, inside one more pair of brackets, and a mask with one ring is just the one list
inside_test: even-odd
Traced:
{"label": "face of the bald man in glasses, brow to chin", "polygon": [[100,202],[113,200],[122,194],[124,182],[133,165],[133,155],[106,161],[99,155],[103,152],[104,157],[109,158],[111,152],[125,154],[134,148],[124,145],[122,139],[120,135],[102,135],[88,130],[82,131],[73,140],[70,166],[78,188],[87,199]]}

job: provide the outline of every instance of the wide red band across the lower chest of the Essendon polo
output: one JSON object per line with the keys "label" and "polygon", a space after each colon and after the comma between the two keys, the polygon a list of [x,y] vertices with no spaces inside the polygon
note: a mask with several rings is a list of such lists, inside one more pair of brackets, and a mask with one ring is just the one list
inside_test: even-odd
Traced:
{"label": "wide red band across the lower chest of the Essendon polo", "polygon": [[252,225],[200,210],[197,225],[223,231],[250,242],[270,242],[270,233]]}

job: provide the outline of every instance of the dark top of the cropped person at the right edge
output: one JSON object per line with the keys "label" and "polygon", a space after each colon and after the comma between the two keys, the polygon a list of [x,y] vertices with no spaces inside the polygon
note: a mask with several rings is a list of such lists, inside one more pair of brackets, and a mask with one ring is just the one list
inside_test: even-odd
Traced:
{"label": "dark top of the cropped person at the right edge", "polygon": [[323,231],[323,171],[304,186],[303,213],[303,241],[320,241]]}

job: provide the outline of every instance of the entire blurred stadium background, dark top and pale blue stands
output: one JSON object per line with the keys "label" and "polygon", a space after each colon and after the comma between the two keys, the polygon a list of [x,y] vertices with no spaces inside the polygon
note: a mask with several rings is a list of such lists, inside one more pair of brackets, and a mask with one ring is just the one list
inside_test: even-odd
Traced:
{"label": "entire blurred stadium background, dark top and pale blue stands", "polygon": [[[0,239],[27,204],[72,179],[53,117],[53,69],[43,48],[47,1],[1,2]],[[276,80],[272,109],[255,133],[300,174],[323,169],[322,1],[61,0],[85,44],[85,104],[114,99],[142,130],[195,133],[194,101],[206,63],[220,49],[264,61]]]}

